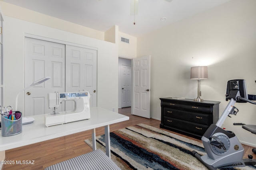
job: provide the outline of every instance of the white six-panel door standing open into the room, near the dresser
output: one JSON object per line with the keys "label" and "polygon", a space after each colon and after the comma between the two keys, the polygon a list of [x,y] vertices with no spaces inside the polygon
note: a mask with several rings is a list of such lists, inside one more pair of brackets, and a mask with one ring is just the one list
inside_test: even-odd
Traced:
{"label": "white six-panel door standing open into the room, near the dresser", "polygon": [[132,114],[150,118],[150,56],[132,63]]}

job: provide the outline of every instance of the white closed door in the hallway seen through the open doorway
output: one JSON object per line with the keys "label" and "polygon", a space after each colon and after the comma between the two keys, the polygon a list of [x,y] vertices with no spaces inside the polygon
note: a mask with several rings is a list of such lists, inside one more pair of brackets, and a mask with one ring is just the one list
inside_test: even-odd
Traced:
{"label": "white closed door in the hallway seen through the open doorway", "polygon": [[132,106],[132,67],[121,65],[122,103],[121,107]]}

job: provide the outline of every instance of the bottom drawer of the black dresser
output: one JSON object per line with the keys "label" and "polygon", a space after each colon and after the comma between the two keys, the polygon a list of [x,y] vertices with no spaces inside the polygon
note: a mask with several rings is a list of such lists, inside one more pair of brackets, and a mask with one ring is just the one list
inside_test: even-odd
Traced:
{"label": "bottom drawer of the black dresser", "polygon": [[200,125],[197,123],[191,123],[170,117],[164,117],[164,125],[174,129],[183,129],[184,131],[196,133],[198,135],[204,135],[205,131],[209,127],[206,125]]}

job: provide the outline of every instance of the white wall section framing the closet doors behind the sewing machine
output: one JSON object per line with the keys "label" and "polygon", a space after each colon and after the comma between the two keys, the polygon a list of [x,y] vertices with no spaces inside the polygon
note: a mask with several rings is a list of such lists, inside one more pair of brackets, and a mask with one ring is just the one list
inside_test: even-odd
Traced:
{"label": "white wall section framing the closet doors behind the sewing machine", "polygon": [[[108,110],[118,110],[118,45],[8,16],[4,21],[3,49],[6,106],[14,106],[16,94],[24,88],[25,33],[98,48],[97,105]],[[24,111],[23,99],[24,95],[20,95],[20,111]]]}

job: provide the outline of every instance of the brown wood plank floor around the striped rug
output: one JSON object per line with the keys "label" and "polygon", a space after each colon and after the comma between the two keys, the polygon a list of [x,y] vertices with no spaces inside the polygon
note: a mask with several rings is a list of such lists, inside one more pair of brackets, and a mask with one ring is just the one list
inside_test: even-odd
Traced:
{"label": "brown wood plank floor around the striped rug", "polygon": [[[123,121],[110,125],[110,131],[116,131],[124,127],[129,127],[139,123],[144,123],[153,127],[160,128],[160,121],[155,119],[147,119],[130,114],[130,107],[118,109],[120,114],[129,116],[128,121]],[[164,129],[165,130],[165,129]],[[166,130],[168,131],[168,130]],[[170,131],[171,132],[171,131]],[[104,134],[104,128],[96,129],[96,136]],[[33,134],[31,134],[33,135]],[[91,138],[91,131],[76,133],[65,137],[60,137],[25,147],[6,150],[6,160],[14,160],[15,164],[4,165],[4,170],[43,170],[47,166],[62,162],[64,160],[88,153],[92,149],[84,143],[85,139]],[[184,135],[182,135],[184,136]],[[186,136],[184,136],[186,137]],[[191,137],[187,137],[192,139]],[[193,138],[194,139],[194,138]],[[194,139],[200,141],[198,139]],[[252,154],[254,158],[256,155],[252,152],[252,147],[244,146],[244,155],[247,158],[248,154]],[[16,164],[16,160],[34,161],[34,164]]]}

